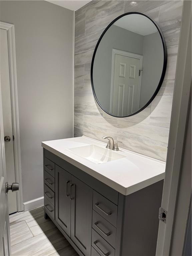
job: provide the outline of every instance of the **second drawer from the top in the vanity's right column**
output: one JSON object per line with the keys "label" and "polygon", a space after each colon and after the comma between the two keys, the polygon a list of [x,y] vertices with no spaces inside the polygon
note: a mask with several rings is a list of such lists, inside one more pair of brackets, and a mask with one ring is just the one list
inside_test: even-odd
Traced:
{"label": "second drawer from the top in the vanity's right column", "polygon": [[116,228],[94,210],[92,228],[115,248]]}

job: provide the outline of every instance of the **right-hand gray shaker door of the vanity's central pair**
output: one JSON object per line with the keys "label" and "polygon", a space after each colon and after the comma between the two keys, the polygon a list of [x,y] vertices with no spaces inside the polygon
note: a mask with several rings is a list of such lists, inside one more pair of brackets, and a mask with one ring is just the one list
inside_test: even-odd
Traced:
{"label": "right-hand gray shaker door of the vanity's central pair", "polygon": [[71,239],[84,255],[91,255],[93,189],[72,175]]}

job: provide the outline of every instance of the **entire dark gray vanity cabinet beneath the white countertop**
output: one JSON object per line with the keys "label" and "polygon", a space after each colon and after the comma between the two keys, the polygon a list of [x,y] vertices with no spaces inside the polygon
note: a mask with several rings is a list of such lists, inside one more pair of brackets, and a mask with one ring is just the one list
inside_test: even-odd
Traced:
{"label": "entire dark gray vanity cabinet beneath the white countertop", "polygon": [[154,256],[163,180],[124,196],[44,149],[44,211],[80,256]]}

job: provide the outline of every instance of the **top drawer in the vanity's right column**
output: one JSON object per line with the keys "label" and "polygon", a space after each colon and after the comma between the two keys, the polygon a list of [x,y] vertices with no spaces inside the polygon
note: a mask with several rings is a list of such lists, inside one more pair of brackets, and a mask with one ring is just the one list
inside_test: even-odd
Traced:
{"label": "top drawer in the vanity's right column", "polygon": [[93,209],[113,226],[117,224],[117,205],[93,191]]}

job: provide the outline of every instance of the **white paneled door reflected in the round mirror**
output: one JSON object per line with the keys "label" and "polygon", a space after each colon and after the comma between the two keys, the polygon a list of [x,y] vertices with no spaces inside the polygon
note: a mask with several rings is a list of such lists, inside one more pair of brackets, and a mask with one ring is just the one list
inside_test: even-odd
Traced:
{"label": "white paneled door reflected in the round mirror", "polygon": [[139,103],[140,59],[115,54],[112,114],[127,116],[136,112]]}

